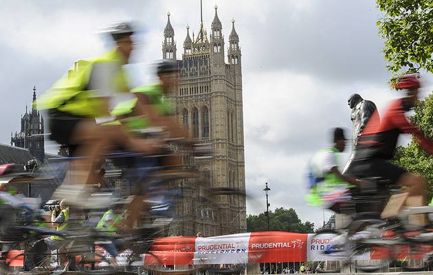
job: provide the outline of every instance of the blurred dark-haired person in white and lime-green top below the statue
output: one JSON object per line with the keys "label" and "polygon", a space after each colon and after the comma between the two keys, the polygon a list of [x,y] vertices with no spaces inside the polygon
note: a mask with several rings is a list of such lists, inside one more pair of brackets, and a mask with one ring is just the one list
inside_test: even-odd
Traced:
{"label": "blurred dark-haired person in white and lime-green top below the statue", "polygon": [[340,203],[351,199],[351,188],[360,181],[343,175],[338,168],[340,153],[346,148],[346,137],[341,128],[333,129],[333,146],[323,148],[309,161],[309,194],[307,202],[313,206],[339,211]]}

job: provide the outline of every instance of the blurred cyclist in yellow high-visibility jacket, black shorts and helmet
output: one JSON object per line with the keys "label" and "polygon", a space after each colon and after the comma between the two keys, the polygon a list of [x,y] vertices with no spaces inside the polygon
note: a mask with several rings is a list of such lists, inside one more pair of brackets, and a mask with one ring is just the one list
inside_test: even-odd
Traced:
{"label": "blurred cyclist in yellow high-visibility jacket, black shorts and helmet", "polygon": [[110,100],[130,91],[123,65],[133,50],[133,29],[126,22],[114,23],[107,31],[115,41],[113,50],[91,61],[78,61],[73,72],[58,80],[36,101],[39,109],[49,110],[52,139],[67,146],[75,159],[75,183],[98,181],[96,171],[108,146],[122,144],[131,151],[152,153],[155,142],[135,139],[122,126],[100,126],[96,118],[109,116]]}

